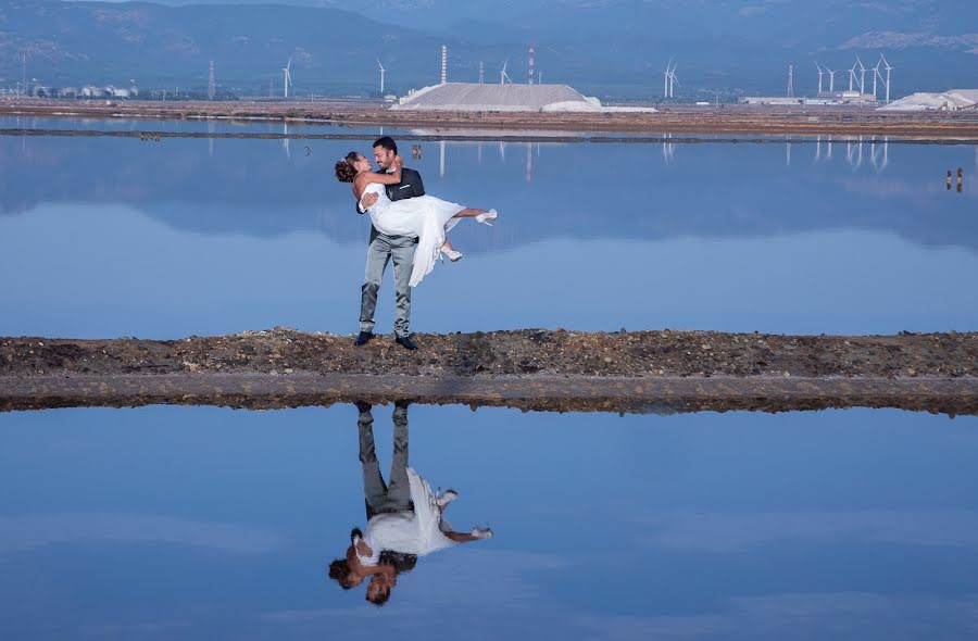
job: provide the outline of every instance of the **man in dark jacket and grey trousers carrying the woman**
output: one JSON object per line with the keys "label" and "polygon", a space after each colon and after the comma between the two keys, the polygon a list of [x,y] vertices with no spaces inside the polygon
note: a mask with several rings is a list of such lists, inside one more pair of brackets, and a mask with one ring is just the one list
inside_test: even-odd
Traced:
{"label": "man in dark jacket and grey trousers carrying the woman", "polygon": [[[374,142],[374,160],[380,165],[380,171],[389,172],[398,155],[398,144],[390,136],[383,136]],[[408,167],[401,168],[401,181],[387,186],[387,197],[394,200],[424,196],[425,186],[421,174]],[[368,193],[363,199],[363,206],[369,208],[377,202],[377,194]],[[356,213],[364,214],[365,210],[356,204]],[[377,291],[384,280],[384,271],[388,261],[394,265],[394,340],[408,350],[416,350],[417,344],[412,340],[408,326],[411,322],[411,268],[414,266],[414,248],[417,244],[416,236],[388,236],[380,234],[371,225],[371,243],[367,247],[366,274],[363,278],[360,298],[360,335],[353,341],[354,345],[366,344],[374,338],[374,312],[377,309]]]}

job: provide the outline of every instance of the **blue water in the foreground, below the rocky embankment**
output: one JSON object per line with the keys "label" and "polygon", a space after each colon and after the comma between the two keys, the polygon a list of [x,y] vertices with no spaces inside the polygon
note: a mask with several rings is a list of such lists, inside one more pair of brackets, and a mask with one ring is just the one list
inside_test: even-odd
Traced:
{"label": "blue water in the foreground, below the rocky embankment", "polygon": [[[374,410],[381,469],[391,407]],[[978,419],[409,410],[410,462],[492,539],[378,608],[356,411],[0,415],[4,639],[968,639]]]}

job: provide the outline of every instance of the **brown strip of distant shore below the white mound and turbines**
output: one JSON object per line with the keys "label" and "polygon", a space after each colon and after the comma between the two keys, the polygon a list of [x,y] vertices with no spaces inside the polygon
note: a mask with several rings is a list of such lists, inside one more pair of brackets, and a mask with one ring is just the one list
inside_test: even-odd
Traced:
{"label": "brown strip of distant shore below the white mound and turbines", "polygon": [[[0,116],[288,122],[306,125],[485,129],[519,133],[753,134],[762,136],[886,136],[978,140],[978,111],[878,112],[856,106],[657,106],[659,113],[526,113],[390,111],[379,104],[322,102],[159,102],[0,100]],[[84,135],[84,133],[82,133]],[[134,135],[138,133],[127,133]],[[66,135],[66,134],[62,134]],[[435,134],[432,134],[435,135]],[[201,137],[221,134],[200,133]],[[235,135],[252,137],[251,135]],[[268,137],[276,137],[269,135]],[[308,137],[300,134],[296,137]]]}

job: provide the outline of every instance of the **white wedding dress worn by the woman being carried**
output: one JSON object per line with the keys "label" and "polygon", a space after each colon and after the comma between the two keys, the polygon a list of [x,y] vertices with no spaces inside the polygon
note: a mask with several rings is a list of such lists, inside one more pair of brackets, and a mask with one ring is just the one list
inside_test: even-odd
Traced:
{"label": "white wedding dress worn by the woman being carried", "polygon": [[417,236],[414,267],[409,281],[411,287],[417,286],[435,268],[444,235],[459,223],[459,218],[452,216],[465,208],[434,196],[416,196],[391,202],[384,186],[378,183],[367,185],[361,199],[367,193],[377,194],[377,202],[367,209],[377,231],[388,236]]}

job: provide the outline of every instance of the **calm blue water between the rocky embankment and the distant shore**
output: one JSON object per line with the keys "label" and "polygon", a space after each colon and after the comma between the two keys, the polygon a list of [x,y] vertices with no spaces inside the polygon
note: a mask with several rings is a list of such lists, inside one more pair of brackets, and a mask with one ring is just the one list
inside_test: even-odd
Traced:
{"label": "calm blue water between the rocky embankment and the distant shore", "polygon": [[[355,131],[0,138],[0,335],[354,331],[368,221],[331,167],[369,150]],[[412,144],[430,193],[502,214],[453,232],[465,259],[415,291],[416,331],[978,328],[974,146]]]}

